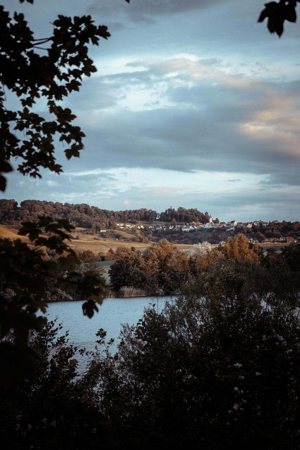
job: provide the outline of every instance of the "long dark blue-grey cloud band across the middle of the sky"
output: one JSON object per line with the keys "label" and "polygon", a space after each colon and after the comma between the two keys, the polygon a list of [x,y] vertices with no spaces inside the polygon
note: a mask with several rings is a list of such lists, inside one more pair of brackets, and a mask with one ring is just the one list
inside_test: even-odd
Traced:
{"label": "long dark blue-grey cloud band across the middle of the sky", "polygon": [[[228,114],[230,111],[227,111]],[[299,167],[295,155],[287,155],[276,138],[254,143],[236,133],[228,121],[210,121],[194,109],[155,109],[119,112],[106,118],[98,130],[89,130],[86,147],[90,161],[100,167],[160,167],[168,170],[219,170],[273,173]],[[241,141],[242,139],[242,141]],[[95,142],[99,145],[95,146]],[[278,153],[274,154],[274,149]],[[97,154],[99,153],[99,156]],[[291,179],[290,179],[291,180]],[[294,180],[291,180],[294,182]],[[288,177],[286,180],[290,183]]]}

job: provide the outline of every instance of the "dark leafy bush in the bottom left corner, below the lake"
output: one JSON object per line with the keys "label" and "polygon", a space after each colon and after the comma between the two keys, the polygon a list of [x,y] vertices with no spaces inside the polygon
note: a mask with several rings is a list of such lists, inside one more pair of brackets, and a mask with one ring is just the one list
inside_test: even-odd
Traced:
{"label": "dark leafy bush in the bottom left corner, below the lake", "polygon": [[7,450],[96,449],[108,440],[98,396],[89,378],[78,376],[75,356],[81,356],[61,329],[62,324],[49,321],[31,336],[31,349],[38,355],[31,376],[0,393],[1,444]]}

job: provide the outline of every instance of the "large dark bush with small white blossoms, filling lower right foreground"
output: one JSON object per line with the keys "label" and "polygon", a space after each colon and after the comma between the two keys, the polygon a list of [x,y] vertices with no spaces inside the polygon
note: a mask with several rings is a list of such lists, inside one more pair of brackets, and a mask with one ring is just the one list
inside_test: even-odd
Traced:
{"label": "large dark bush with small white blossoms, filling lower right foreground", "polygon": [[224,260],[123,328],[100,375],[120,447],[299,448],[299,279],[293,304],[276,286],[267,295],[272,277]]}

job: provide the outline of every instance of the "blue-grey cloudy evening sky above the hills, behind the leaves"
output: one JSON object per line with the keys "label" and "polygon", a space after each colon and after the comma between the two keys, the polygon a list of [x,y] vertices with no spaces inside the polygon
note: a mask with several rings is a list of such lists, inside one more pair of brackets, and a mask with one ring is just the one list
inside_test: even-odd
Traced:
{"label": "blue-grey cloudy evening sky above the hills, behind the leaves", "polygon": [[4,8],[22,11],[36,38],[58,14],[90,14],[111,33],[90,47],[98,71],[63,102],[86,135],[80,158],[67,161],[58,144],[63,173],[42,170],[35,180],[13,171],[4,198],[300,220],[299,23],[271,35],[257,23],[263,0],[4,0]]}

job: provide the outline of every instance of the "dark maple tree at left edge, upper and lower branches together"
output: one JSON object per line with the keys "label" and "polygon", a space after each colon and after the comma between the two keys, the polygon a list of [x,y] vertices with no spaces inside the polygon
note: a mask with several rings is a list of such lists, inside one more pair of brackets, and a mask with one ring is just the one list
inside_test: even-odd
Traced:
{"label": "dark maple tree at left edge, upper and lower branches together", "polygon": [[[72,19],[59,15],[53,23],[52,36],[34,39],[23,14],[14,13],[11,18],[3,6],[0,23],[0,189],[4,191],[3,174],[12,171],[10,161],[14,157],[22,158],[18,166],[22,175],[40,178],[40,167],[57,173],[62,171],[54,155],[54,137],[67,144],[68,159],[79,157],[84,133],[72,125],[74,114],[62,108],[59,101],[79,90],[83,76],[96,71],[88,57],[89,43],[99,45],[100,38],[107,39],[110,35],[107,27],[95,26],[90,16]],[[45,54],[41,55],[40,50]],[[6,90],[17,97],[18,110],[6,107]],[[52,120],[34,111],[39,98],[46,99]],[[0,338],[13,330],[11,341],[0,342],[1,389],[6,389],[16,376],[24,375],[25,367],[35,358],[28,347],[29,332],[40,330],[45,324],[45,320],[37,317],[37,311],[45,313],[46,280],[58,280],[54,261],[47,259],[43,248],[55,251],[60,266],[70,270],[67,278],[58,281],[81,291],[82,298],[86,299],[84,314],[91,317],[94,310],[98,311],[95,301],[101,303],[103,298],[100,280],[74,272],[80,261],[65,243],[69,240],[67,233],[73,228],[67,220],[55,223],[50,217],[40,217],[37,223],[23,223],[19,231],[28,234],[33,245],[20,240],[14,243],[0,240],[1,277],[7,284],[16,284],[10,299],[0,293]]]}

